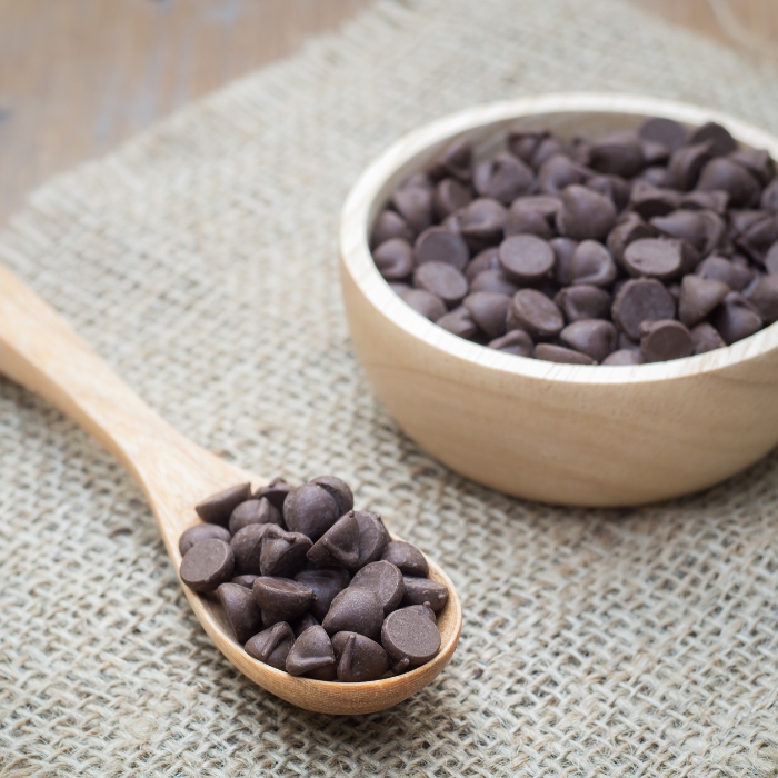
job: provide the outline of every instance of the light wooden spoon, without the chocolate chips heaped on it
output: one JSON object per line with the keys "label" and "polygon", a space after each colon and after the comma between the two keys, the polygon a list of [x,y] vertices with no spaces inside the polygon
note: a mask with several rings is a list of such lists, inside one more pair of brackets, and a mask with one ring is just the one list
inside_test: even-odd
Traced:
{"label": "light wooden spoon, without the chocolate chips heaped on it", "polygon": [[[170,427],[39,297],[0,266],[0,371],[41,395],[106,447],[134,477],[157,517],[178,571],[181,532],[199,521],[194,505],[237,483],[267,479],[233,467]],[[451,580],[429,560],[430,578],[449,590],[438,615],[441,648],[435,659],[400,676],[363,684],[297,678],[248,656],[227,626],[220,605],[183,587],[217,648],[252,681],[301,708],[368,714],[427,686],[451,658],[462,626]]]}

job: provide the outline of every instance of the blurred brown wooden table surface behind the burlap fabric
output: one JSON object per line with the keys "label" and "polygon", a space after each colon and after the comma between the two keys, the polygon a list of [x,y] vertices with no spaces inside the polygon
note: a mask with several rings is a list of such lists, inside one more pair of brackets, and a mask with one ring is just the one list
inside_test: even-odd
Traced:
{"label": "blurred brown wooden table surface behind the burlap fabric", "polygon": [[[778,0],[621,0],[755,58]],[[369,0],[0,0],[0,225],[39,183],[337,28]]]}

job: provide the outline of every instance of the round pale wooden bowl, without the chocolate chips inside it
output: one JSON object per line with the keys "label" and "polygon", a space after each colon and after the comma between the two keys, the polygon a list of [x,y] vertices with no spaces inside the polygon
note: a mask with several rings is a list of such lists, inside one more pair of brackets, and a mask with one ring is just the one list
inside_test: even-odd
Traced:
{"label": "round pale wooden bowl, without the chocolate chips inside it", "polygon": [[407,306],[368,246],[397,186],[451,140],[493,152],[509,127],[556,134],[626,130],[649,116],[717,121],[778,159],[778,139],[716,111],[646,97],[550,94],[456,113],[408,133],[361,176],[340,221],[341,278],[357,356],[400,427],[436,459],[488,487],[543,502],[630,506],[694,492],[778,442],[778,323],[727,348],[634,367],[501,353]]}

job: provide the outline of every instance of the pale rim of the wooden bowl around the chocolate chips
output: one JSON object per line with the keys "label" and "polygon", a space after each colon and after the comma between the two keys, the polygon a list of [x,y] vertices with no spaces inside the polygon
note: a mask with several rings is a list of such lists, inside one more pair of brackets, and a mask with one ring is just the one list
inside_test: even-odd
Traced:
{"label": "pale rim of the wooden bowl around the chocolate chips", "polygon": [[527,378],[570,383],[649,383],[712,373],[761,357],[778,347],[778,322],[731,346],[667,362],[636,366],[563,365],[508,355],[448,332],[403,302],[376,267],[369,247],[370,213],[387,181],[429,147],[479,127],[546,113],[625,113],[662,116],[688,124],[716,121],[741,143],[767,149],[778,159],[778,138],[720,111],[641,94],[556,92],[485,103],[445,116],[395,141],[362,172],[351,188],[340,216],[342,270],[370,303],[408,335],[450,357],[481,368]]}

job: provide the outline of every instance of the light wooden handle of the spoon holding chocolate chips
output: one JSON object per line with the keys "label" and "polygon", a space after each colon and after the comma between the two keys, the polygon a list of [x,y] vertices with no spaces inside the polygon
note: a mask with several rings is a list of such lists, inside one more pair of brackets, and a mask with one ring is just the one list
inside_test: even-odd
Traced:
{"label": "light wooden handle of the spoon holding chocolate chips", "polygon": [[57,406],[132,473],[173,558],[184,507],[238,482],[237,468],[168,425],[1,265],[0,372]]}

